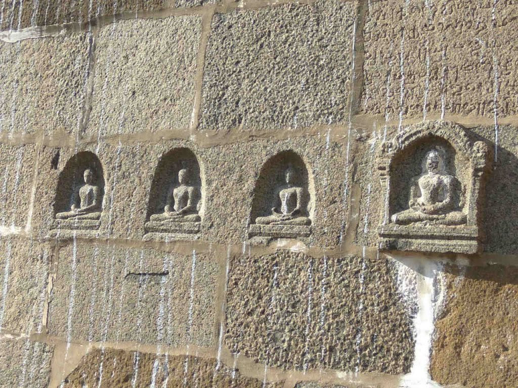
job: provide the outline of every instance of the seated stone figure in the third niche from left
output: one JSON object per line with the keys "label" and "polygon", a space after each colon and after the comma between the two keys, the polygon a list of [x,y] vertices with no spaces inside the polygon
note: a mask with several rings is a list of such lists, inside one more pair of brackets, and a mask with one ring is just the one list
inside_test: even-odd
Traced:
{"label": "seated stone figure in the third niche from left", "polygon": [[304,199],[306,189],[294,186],[295,171],[288,167],[285,172],[286,185],[279,192],[280,210],[271,209],[271,215],[257,217],[255,223],[259,225],[311,225],[311,220],[305,216]]}

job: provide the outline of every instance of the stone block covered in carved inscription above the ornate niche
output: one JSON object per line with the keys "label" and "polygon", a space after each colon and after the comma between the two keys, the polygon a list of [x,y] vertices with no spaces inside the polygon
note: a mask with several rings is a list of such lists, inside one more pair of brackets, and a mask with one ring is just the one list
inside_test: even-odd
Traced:
{"label": "stone block covered in carved inscription above the ornate niche", "polygon": [[[389,120],[427,114],[518,112],[513,2],[369,2],[362,113]],[[496,93],[495,93],[496,92]]]}

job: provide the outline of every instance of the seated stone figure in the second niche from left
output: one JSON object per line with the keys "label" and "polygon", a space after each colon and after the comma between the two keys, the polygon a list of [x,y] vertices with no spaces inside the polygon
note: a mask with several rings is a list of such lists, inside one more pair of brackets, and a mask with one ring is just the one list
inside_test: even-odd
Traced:
{"label": "seated stone figure in the second niche from left", "polygon": [[190,171],[181,169],[178,172],[179,186],[175,187],[167,196],[167,204],[164,213],[153,214],[150,221],[161,221],[167,223],[177,222],[199,222],[198,202],[200,199],[199,188],[191,186]]}

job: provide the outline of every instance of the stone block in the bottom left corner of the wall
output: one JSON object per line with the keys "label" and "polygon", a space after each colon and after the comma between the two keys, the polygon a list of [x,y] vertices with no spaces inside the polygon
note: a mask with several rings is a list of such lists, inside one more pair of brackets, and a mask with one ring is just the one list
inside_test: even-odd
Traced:
{"label": "stone block in the bottom left corner of the wall", "polygon": [[0,339],[0,386],[47,388],[53,347],[28,339]]}

